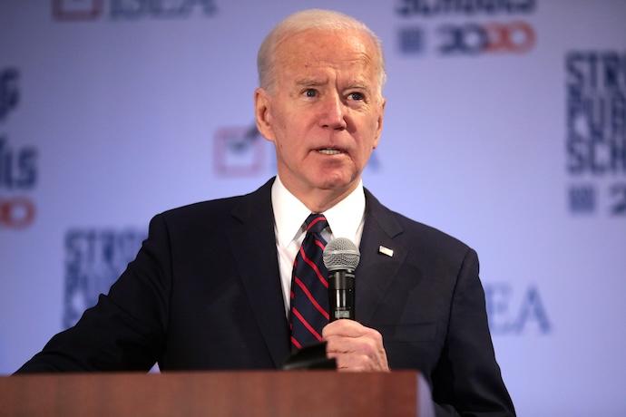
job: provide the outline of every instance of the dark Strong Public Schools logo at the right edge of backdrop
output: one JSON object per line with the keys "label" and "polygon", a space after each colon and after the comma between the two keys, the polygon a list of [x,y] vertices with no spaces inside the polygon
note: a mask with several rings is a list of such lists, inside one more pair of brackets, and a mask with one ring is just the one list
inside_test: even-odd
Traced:
{"label": "dark Strong Public Schools logo at the right edge of backdrop", "polygon": [[567,53],[565,82],[569,209],[626,216],[626,52]]}

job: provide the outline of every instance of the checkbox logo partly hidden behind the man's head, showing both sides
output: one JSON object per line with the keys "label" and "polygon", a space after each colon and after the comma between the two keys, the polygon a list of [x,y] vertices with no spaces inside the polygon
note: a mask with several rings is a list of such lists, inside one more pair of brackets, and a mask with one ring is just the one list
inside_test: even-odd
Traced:
{"label": "checkbox logo partly hidden behind the man's head, showing both sides", "polygon": [[[375,151],[366,169],[376,172],[379,168]],[[274,145],[261,136],[256,123],[222,127],[213,135],[213,170],[224,178],[276,175]]]}

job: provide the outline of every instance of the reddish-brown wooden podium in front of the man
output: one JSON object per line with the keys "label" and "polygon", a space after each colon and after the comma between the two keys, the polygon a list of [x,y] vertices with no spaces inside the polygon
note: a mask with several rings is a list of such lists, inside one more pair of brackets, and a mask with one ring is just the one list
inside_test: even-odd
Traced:
{"label": "reddish-brown wooden podium in front of the man", "polygon": [[434,416],[415,372],[54,373],[0,377],[3,416]]}

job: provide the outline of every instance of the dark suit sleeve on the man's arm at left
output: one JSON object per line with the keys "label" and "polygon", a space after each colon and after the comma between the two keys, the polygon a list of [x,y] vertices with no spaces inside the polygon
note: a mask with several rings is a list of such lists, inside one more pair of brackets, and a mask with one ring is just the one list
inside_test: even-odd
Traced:
{"label": "dark suit sleeve on the man's arm at left", "polygon": [[167,327],[171,267],[161,216],[107,296],[87,309],[17,373],[147,371],[157,361]]}

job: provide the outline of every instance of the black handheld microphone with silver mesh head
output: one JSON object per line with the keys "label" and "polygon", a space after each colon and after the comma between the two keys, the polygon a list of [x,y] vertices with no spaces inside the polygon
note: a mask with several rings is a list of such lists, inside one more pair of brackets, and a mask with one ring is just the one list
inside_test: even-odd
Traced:
{"label": "black handheld microphone with silver mesh head", "polygon": [[357,245],[348,238],[336,238],[322,255],[328,269],[329,320],[355,320],[355,269],[361,260]]}

